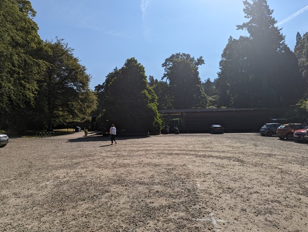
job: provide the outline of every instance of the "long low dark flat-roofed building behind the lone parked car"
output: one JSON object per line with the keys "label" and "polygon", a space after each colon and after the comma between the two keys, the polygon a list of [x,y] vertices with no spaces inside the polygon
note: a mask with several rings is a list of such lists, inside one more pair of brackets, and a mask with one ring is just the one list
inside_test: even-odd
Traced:
{"label": "long low dark flat-roofed building behind the lone parked car", "polygon": [[267,108],[218,108],[159,110],[165,125],[178,126],[181,132],[209,132],[212,124],[220,124],[225,132],[259,131],[271,121],[273,110]]}

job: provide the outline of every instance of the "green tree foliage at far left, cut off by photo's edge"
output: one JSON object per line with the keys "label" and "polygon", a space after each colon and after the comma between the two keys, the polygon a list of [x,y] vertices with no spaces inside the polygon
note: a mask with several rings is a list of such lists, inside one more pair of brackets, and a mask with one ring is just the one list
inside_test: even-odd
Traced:
{"label": "green tree foliage at far left, cut off by photo's edge", "polygon": [[0,1],[0,113],[34,104],[44,62],[37,59],[42,41],[29,1]]}

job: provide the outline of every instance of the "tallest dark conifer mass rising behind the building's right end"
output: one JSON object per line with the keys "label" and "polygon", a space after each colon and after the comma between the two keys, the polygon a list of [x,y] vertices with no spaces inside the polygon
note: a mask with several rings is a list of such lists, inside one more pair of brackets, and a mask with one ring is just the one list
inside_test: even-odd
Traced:
{"label": "tallest dark conifer mass rising behind the building's right end", "polygon": [[[302,94],[297,60],[275,27],[266,0],[244,1],[249,36],[229,38],[220,62],[219,104],[233,107],[294,105]],[[290,94],[292,92],[292,94]]]}

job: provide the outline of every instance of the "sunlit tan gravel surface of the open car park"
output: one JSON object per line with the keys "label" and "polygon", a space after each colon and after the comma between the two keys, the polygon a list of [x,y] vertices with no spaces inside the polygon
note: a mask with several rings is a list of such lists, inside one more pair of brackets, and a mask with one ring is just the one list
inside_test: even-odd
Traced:
{"label": "sunlit tan gravel surface of the open car park", "polygon": [[10,139],[0,231],[307,231],[308,144],[257,133]]}

